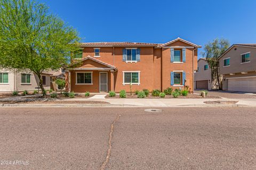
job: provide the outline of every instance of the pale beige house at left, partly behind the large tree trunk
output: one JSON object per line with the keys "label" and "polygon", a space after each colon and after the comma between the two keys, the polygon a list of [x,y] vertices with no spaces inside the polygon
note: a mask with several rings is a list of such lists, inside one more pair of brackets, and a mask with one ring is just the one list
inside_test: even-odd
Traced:
{"label": "pale beige house at left, partly behind the large tree trunk", "polygon": [[[51,88],[52,76],[65,77],[65,74],[60,71],[45,71],[42,74],[43,85],[46,90]],[[14,69],[0,69],[0,92],[13,91],[34,91],[39,87],[38,77],[29,71],[17,72]]]}

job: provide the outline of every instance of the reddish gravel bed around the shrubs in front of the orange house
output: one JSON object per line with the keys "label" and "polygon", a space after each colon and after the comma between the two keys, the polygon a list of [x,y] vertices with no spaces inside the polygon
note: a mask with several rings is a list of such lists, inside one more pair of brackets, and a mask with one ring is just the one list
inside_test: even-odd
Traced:
{"label": "reddish gravel bed around the shrubs in front of the orange house", "polygon": [[[114,97],[110,97],[109,95],[106,95],[105,98],[107,99],[119,99],[119,95],[116,95]],[[132,95],[130,93],[126,93],[126,99],[140,99],[138,98],[138,96],[135,93],[132,93]],[[172,95],[165,95],[165,98],[159,98],[158,96],[152,96],[151,93],[143,99],[173,99]],[[197,95],[197,94],[188,94],[187,96],[183,96],[180,95],[179,99],[203,99],[202,96]],[[211,95],[207,95],[206,99],[221,99],[218,96],[211,96]]]}

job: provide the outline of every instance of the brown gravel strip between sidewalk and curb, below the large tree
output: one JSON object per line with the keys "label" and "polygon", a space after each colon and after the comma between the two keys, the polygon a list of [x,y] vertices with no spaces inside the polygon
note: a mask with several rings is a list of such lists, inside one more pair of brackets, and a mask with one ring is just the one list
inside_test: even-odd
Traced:
{"label": "brown gravel strip between sidewalk and curb, below the large tree", "polygon": [[109,104],[104,101],[0,101],[1,104]]}

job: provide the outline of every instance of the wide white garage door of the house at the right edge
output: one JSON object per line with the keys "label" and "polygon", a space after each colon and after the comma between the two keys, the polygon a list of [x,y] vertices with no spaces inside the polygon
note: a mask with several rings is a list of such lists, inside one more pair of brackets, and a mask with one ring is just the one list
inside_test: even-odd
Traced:
{"label": "wide white garage door of the house at the right edge", "polygon": [[256,92],[256,77],[228,79],[228,90],[238,92]]}

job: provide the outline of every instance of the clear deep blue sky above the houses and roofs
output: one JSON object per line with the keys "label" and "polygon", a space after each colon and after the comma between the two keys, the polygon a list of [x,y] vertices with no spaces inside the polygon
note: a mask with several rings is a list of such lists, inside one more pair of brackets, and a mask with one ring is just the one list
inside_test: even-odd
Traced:
{"label": "clear deep blue sky above the houses and roofs", "polygon": [[76,28],[82,42],[165,43],[180,37],[202,46],[214,38],[256,43],[253,0],[39,2]]}

